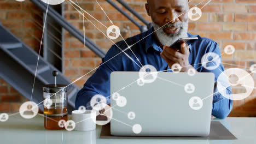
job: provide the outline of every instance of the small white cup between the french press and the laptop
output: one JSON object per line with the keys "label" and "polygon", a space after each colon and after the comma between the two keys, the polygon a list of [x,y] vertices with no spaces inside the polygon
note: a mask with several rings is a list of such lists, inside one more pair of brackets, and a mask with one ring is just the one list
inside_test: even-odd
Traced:
{"label": "small white cup between the french press and the laptop", "polygon": [[72,119],[75,122],[74,130],[90,131],[96,129],[96,111],[86,110],[84,113],[78,110],[72,111]]}

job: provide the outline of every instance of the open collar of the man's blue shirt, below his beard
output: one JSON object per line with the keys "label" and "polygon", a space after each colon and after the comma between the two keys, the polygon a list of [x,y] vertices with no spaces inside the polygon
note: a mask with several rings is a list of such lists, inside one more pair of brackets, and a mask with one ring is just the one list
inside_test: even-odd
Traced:
{"label": "open collar of the man's blue shirt, below his beard", "polygon": [[[154,29],[153,27],[151,27],[145,34],[145,37],[147,37],[148,35],[148,38],[146,39],[146,45],[145,45],[145,50],[146,50],[146,53],[148,52],[148,50],[150,48],[153,47],[154,50],[156,51],[159,51],[159,52],[162,52],[162,49],[161,47],[158,45],[158,43],[156,42],[156,38],[155,38],[155,35],[153,34],[154,32]],[[188,33],[188,37],[197,37],[197,35],[192,35],[190,33]],[[188,45],[189,45],[189,51],[191,52],[191,44],[193,42],[189,42],[188,41]]]}

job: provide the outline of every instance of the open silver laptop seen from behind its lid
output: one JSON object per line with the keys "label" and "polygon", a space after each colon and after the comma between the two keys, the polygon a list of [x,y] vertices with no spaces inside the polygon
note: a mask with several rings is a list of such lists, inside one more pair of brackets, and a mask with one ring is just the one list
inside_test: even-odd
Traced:
{"label": "open silver laptop seen from behind its lid", "polygon": [[121,97],[110,98],[113,111],[110,121],[111,135],[210,134],[213,73],[196,73],[193,76],[188,73],[158,73],[153,82],[147,81],[148,83],[143,84],[139,80],[139,72],[111,73],[110,93],[118,92],[123,96],[122,101],[119,99]]}

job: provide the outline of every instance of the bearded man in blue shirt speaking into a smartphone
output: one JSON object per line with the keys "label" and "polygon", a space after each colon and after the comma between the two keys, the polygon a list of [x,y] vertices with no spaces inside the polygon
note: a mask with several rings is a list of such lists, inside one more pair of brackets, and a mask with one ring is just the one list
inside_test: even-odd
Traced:
{"label": "bearded man in blue shirt speaking into a smartphone", "polygon": [[[128,46],[125,41],[119,41],[117,46],[113,45],[109,49],[107,55],[102,59],[102,63],[106,63],[97,69],[79,91],[75,101],[75,109],[78,109],[80,105],[90,106],[90,99],[96,94],[105,97],[110,95],[109,79],[112,71],[139,71],[142,65],[146,64],[153,65],[158,71],[171,72],[171,66],[178,63],[182,67],[182,72],[187,72],[191,68],[198,72],[211,72],[215,74],[216,81],[219,74],[224,70],[223,65],[220,64],[214,70],[207,70],[202,67],[201,58],[208,52],[214,52],[220,56],[218,44],[211,39],[187,33],[189,5],[188,0],[148,0],[146,9],[152,18],[153,27],[145,33],[125,40],[130,46],[136,43],[131,47],[132,51],[126,49]],[[178,38],[185,37],[198,37],[199,39],[189,45],[183,41],[180,51],[168,47]],[[127,55],[136,63],[131,61],[124,52],[120,53],[121,50],[118,46],[125,50]],[[120,54],[118,55],[118,53]],[[110,61],[108,61],[109,59]],[[141,67],[138,66],[140,63],[142,64]],[[216,87],[214,92],[218,92]],[[231,94],[230,88],[227,92]],[[107,99],[107,103],[110,103],[109,99]],[[231,109],[232,100],[226,99],[220,93],[213,95],[213,116],[225,118]]]}

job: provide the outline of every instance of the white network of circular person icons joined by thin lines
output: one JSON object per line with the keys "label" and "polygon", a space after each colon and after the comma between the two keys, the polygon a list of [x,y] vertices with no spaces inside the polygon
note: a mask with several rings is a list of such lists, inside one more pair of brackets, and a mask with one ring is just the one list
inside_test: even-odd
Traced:
{"label": "white network of circular person icons joined by thin lines", "polygon": [[[16,1],[23,2],[25,0],[16,0]],[[65,2],[65,0],[55,0],[55,1],[41,0],[41,1],[43,1],[44,3],[46,3],[48,5],[49,4],[56,5],[56,4],[61,4],[61,3]],[[69,4],[71,4],[72,6],[75,5],[75,7],[80,8],[81,11],[84,11],[84,13],[85,13],[85,10],[82,10],[82,8],[78,4],[76,4],[75,1],[71,1],[71,0],[66,0],[66,1]],[[206,3],[206,4],[208,4],[208,3]],[[186,11],[186,13],[188,13],[189,19],[191,21],[199,20],[200,17],[202,16],[201,9],[203,7],[205,7],[205,5],[203,5],[201,8],[198,8],[197,5],[195,5],[194,7],[190,8],[188,11]],[[101,7],[101,9],[104,12],[102,7]],[[81,14],[80,11],[79,11],[79,13]],[[47,15],[47,13],[46,13],[46,15]],[[109,21],[113,24],[113,22],[110,19],[109,19]],[[121,37],[120,28],[118,26],[111,25],[106,28],[107,29],[105,32],[102,32],[102,31],[101,32],[110,41]],[[123,37],[121,37],[121,38],[123,39]],[[114,44],[114,42],[113,42],[113,44]],[[120,49],[120,47],[119,47],[119,49]],[[127,45],[127,49],[132,50],[132,45]],[[236,49],[235,49],[234,45],[231,45],[231,44],[226,45],[224,47],[224,53],[221,53],[221,55],[224,55],[224,54],[225,55],[233,55],[235,50]],[[125,52],[125,50],[122,50],[122,52],[125,53],[125,55],[127,57],[129,57],[127,55],[127,53]],[[131,57],[129,57],[129,58],[131,59],[132,62],[136,63],[140,67],[140,70],[139,70],[139,73],[137,76],[137,80],[133,84],[129,83],[129,85],[127,85],[125,87],[128,87],[132,84],[132,85],[136,85],[137,87],[142,88],[146,85],[150,85],[150,83],[154,83],[158,79],[158,74],[165,72],[165,71],[158,71],[153,65],[149,65],[149,64],[142,65],[141,62],[139,62],[138,58],[137,59],[132,59]],[[102,63],[102,64],[104,64],[104,63]],[[203,69],[206,69],[209,71],[216,70],[216,71],[221,72],[217,79],[217,88],[218,88],[218,93],[222,94],[225,98],[228,98],[231,100],[243,100],[243,99],[249,97],[249,95],[253,92],[253,89],[255,89],[255,87],[254,87],[255,80],[253,79],[253,77],[251,75],[256,74],[256,64],[251,65],[249,70],[245,70],[245,69],[241,69],[241,68],[229,68],[229,69],[225,69],[224,71],[222,71],[222,70],[220,70],[220,65],[222,64],[221,57],[219,56],[219,53],[214,53],[214,52],[205,53],[205,55],[203,55],[203,57],[201,58],[201,63],[197,63],[197,64],[201,65],[200,68],[203,68]],[[182,68],[183,67],[180,64],[174,63],[171,66],[171,68],[168,70],[171,70],[174,74],[179,74],[179,73],[182,73],[181,72]],[[197,71],[193,68],[189,69],[187,72],[187,74],[191,77],[196,76],[196,73],[197,73]],[[195,93],[197,91],[197,87],[196,87],[196,85],[194,85],[194,83],[187,83],[185,85],[179,84],[179,86],[182,87],[182,89],[184,90],[184,93],[190,95],[189,100],[184,101],[184,103],[186,103],[191,108],[191,110],[193,110],[195,112],[200,111],[202,109],[202,107],[204,106],[203,100],[205,100],[208,95],[206,95],[206,98],[197,97],[197,95]],[[226,92],[228,88],[237,87],[237,86],[243,88],[242,93],[228,94],[228,92]],[[96,116],[101,116],[103,119],[103,120],[101,119],[101,120],[96,120],[96,121],[94,120],[94,123],[96,123],[97,125],[106,125],[110,121],[115,121],[116,119],[114,119],[115,116],[113,115],[112,107],[114,106],[115,109],[118,109],[118,107],[125,107],[127,104],[130,103],[130,101],[127,100],[128,95],[120,95],[120,91],[122,91],[122,89],[120,89],[117,92],[112,93],[111,95],[96,94],[91,98],[89,105],[80,106],[78,108],[78,112],[86,113],[86,111],[88,111],[89,109],[92,111],[96,111]],[[53,101],[53,99],[51,99],[52,97],[58,97],[55,100],[59,100],[62,102],[65,101],[65,99],[62,99],[63,94],[57,95],[57,93],[59,93],[59,91],[46,95],[45,99],[41,102],[45,109],[50,109],[51,106],[56,104],[56,101]],[[113,99],[115,101],[115,103],[109,105],[108,99]],[[19,109],[20,116],[23,117],[24,119],[32,119],[35,116],[39,115],[38,105],[39,104],[36,104],[33,101],[26,101],[24,104],[22,104],[20,106],[20,109]],[[63,108],[62,110],[65,110],[65,109]],[[127,119],[130,119],[131,122],[136,120],[136,117],[137,117],[136,111],[129,110],[129,111],[125,111],[124,113],[125,113],[125,117],[127,117]],[[7,113],[1,113],[0,114],[0,122],[8,121],[8,118],[11,117],[12,115],[15,115],[15,113],[11,114],[11,115],[8,115]],[[47,115],[51,115],[51,113],[48,113]],[[53,120],[53,121],[57,121],[57,120]],[[70,120],[61,119],[61,120],[57,121],[57,123],[58,123],[58,125],[57,125],[58,127],[65,128],[68,131],[74,130],[75,125],[77,124],[74,121],[72,121],[71,119]],[[143,127],[141,126],[141,124],[133,123],[131,130],[133,131],[133,133],[139,134],[143,130]]]}

